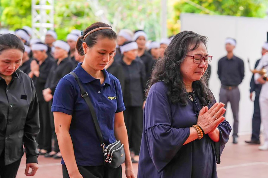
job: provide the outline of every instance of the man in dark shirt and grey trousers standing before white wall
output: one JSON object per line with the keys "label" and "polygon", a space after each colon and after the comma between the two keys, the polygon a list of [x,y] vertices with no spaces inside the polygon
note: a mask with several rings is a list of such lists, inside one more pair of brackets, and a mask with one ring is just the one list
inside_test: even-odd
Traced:
{"label": "man in dark shirt and grey trousers standing before white wall", "polygon": [[225,40],[225,49],[227,56],[221,58],[218,62],[218,75],[221,81],[219,101],[225,104],[231,104],[233,111],[233,143],[237,144],[238,124],[239,124],[239,101],[240,91],[238,85],[244,78],[244,62],[233,54],[236,46],[236,40],[227,38]]}

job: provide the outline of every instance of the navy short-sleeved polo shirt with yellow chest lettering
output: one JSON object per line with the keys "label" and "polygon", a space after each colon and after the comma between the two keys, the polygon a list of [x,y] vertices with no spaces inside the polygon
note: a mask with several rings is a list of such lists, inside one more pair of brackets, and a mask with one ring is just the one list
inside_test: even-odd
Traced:
{"label": "navy short-sleeved polo shirt with yellow chest lettering", "polygon": [[[96,111],[102,136],[107,146],[116,141],[114,136],[115,113],[125,110],[120,82],[105,69],[105,81],[100,83],[88,74],[79,63],[74,69],[84,86]],[[81,96],[80,88],[71,74],[64,76],[57,85],[53,96],[52,112],[72,115],[69,133],[78,166],[100,166],[104,158],[100,140],[88,105]],[[62,164],[65,164],[62,160]]]}

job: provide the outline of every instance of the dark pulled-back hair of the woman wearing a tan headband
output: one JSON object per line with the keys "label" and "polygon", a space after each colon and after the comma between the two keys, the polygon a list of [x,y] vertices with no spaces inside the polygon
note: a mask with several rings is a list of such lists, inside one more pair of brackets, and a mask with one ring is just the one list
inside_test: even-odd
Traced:
{"label": "dark pulled-back hair of the woman wearing a tan headband", "polygon": [[99,36],[106,37],[109,39],[117,39],[116,32],[114,32],[113,30],[110,30],[110,29],[102,29],[102,30],[98,30],[98,31],[95,31],[95,32],[89,34],[85,38],[85,41],[83,40],[85,35],[88,32],[90,32],[91,30],[94,30],[95,28],[99,28],[99,27],[111,27],[111,26],[106,24],[106,23],[95,22],[91,26],[86,28],[83,31],[83,35],[77,39],[76,49],[77,49],[77,52],[79,55],[81,55],[81,56],[85,55],[83,47],[82,47],[83,42],[86,42],[88,47],[92,47],[96,44]]}

